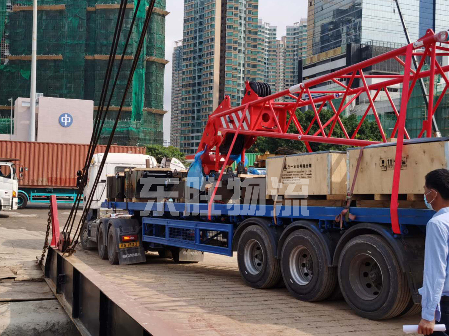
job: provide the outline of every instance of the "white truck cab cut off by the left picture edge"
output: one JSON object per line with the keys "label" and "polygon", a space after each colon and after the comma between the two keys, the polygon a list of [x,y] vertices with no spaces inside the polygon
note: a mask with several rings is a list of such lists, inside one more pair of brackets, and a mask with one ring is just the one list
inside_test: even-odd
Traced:
{"label": "white truck cab cut off by the left picture edge", "polygon": [[[0,158],[0,206],[1,210],[17,210],[19,179],[13,161],[18,159]],[[23,168],[19,167],[22,178]]]}

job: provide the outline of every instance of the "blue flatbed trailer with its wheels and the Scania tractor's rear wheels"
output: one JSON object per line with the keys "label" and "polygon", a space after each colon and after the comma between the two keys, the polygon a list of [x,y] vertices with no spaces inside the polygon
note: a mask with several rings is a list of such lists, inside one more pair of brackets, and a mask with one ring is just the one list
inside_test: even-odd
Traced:
{"label": "blue flatbed trailer with its wheels and the Scania tractor's rear wheels", "polygon": [[[335,217],[343,207],[282,205],[276,221],[273,205],[216,203],[210,221],[207,203],[104,202],[102,207],[132,216],[86,225],[87,243],[97,245],[100,257],[111,263],[143,262],[145,251],[164,257],[169,250],[176,261],[182,260],[180,251],[230,257],[237,252],[243,280],[257,289],[283,281],[294,297],[307,302],[343,294],[369,319],[420,310],[423,232],[434,211],[399,209],[402,234],[397,235],[389,208],[352,207],[356,220],[345,220],[340,228]],[[129,237],[132,242],[126,243]]]}

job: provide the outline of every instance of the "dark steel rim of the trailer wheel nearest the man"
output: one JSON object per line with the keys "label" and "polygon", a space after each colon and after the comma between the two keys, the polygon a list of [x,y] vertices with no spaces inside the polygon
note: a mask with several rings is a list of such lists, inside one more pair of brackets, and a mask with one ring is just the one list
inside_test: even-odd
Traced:
{"label": "dark steel rim of the trailer wheel nearest the man", "polygon": [[379,263],[370,254],[361,253],[349,264],[349,283],[358,297],[374,300],[382,290],[383,274]]}

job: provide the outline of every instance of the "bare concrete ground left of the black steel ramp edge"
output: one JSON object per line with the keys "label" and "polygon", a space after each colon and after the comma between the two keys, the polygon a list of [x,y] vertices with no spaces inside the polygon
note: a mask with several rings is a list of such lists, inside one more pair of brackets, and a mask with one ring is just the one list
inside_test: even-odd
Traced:
{"label": "bare concrete ground left of the black steel ramp edge", "polygon": [[[70,205],[61,205],[64,222]],[[48,204],[0,212],[0,335],[79,335],[43,282],[42,254]],[[50,233],[51,239],[51,233]]]}

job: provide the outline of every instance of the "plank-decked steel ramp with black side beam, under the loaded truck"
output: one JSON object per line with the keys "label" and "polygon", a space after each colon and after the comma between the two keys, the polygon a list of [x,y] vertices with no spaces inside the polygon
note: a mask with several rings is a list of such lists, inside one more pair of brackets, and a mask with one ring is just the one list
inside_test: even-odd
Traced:
{"label": "plank-decked steel ramp with black side beam, under the loaded truck", "polygon": [[235,255],[206,253],[202,263],[174,263],[147,253],[146,263],[123,268],[97,251],[69,257],[50,248],[45,269],[83,336],[401,336],[403,324],[419,319],[370,321],[341,300],[302,302],[285,288],[251,288]]}

